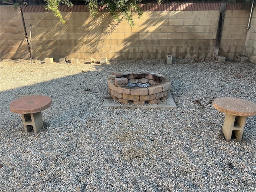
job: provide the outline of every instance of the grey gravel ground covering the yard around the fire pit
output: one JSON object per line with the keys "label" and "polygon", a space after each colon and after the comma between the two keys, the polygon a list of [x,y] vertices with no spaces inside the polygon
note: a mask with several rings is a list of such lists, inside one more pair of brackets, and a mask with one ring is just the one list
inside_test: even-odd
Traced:
{"label": "grey gravel ground covering the yard around the fire pit", "polygon": [[[102,108],[112,71],[167,76],[177,109]],[[224,113],[212,106],[221,96],[256,102],[254,63],[2,60],[0,72],[3,192],[256,191],[256,116],[241,142],[226,142]],[[28,87],[52,98],[36,134],[9,109]]]}

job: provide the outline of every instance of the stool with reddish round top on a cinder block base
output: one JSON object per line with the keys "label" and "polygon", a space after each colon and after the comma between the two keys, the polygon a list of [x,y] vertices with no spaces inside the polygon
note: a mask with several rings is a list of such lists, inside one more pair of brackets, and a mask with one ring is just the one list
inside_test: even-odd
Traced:
{"label": "stool with reddish round top on a cinder block base", "polygon": [[10,110],[22,115],[24,130],[37,133],[43,126],[41,111],[52,104],[52,99],[43,95],[29,95],[10,103]]}

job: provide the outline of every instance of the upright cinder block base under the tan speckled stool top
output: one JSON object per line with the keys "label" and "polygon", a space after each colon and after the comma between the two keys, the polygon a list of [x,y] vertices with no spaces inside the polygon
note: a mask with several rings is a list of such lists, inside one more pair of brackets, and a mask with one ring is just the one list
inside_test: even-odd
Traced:
{"label": "upright cinder block base under the tan speckled stool top", "polygon": [[236,140],[242,140],[246,118],[247,117],[225,114],[222,132],[225,136],[226,141],[231,140],[232,133],[236,137]]}

